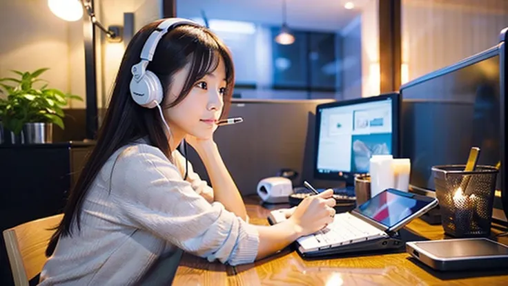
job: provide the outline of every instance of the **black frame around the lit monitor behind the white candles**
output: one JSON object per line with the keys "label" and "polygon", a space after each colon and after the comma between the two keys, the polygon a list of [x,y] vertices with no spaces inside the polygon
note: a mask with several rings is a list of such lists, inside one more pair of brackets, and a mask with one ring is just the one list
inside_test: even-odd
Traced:
{"label": "black frame around the lit monitor behind the white candles", "polygon": [[326,104],[319,104],[315,109],[315,133],[314,133],[314,162],[313,162],[313,173],[315,180],[331,180],[331,181],[342,181],[346,182],[347,185],[354,184],[354,178],[357,174],[355,172],[340,171],[338,173],[320,173],[317,169],[317,153],[319,149],[320,140],[320,126],[321,126],[321,111],[326,108],[335,108],[340,106],[350,106],[354,104],[364,104],[369,102],[382,102],[387,99],[391,99],[391,131],[392,131],[392,142],[391,142],[391,153],[393,158],[399,158],[400,156],[400,106],[401,97],[398,92],[383,93],[373,97],[362,97],[358,99],[348,99],[338,102],[331,102]]}

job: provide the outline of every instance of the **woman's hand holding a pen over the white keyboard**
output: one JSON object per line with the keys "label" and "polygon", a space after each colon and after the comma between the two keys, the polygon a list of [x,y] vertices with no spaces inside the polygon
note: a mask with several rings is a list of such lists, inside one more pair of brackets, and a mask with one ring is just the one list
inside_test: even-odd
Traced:
{"label": "woman's hand holding a pen over the white keyboard", "polygon": [[306,236],[326,227],[335,216],[335,198],[333,190],[327,189],[319,195],[304,198],[289,215],[288,220],[293,222],[300,236]]}

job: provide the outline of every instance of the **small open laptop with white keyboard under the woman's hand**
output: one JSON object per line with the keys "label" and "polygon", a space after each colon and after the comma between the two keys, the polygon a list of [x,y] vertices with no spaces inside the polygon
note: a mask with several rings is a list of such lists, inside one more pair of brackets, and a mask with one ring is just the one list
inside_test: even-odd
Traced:
{"label": "small open laptop with white keyboard under the woman's hand", "polygon": [[[335,214],[324,229],[298,238],[296,249],[301,256],[317,257],[399,248],[404,243],[398,231],[436,205],[436,198],[386,189],[353,211]],[[271,211],[268,222],[286,220],[286,210]]]}

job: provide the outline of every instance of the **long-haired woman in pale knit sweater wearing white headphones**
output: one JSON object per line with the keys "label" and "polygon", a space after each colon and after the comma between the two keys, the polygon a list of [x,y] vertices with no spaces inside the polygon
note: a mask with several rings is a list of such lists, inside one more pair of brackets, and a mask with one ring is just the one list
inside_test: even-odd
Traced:
{"label": "long-haired woman in pale knit sweater wearing white headphones", "polygon": [[[231,55],[210,30],[164,19],[137,32],[97,145],[48,245],[41,285],[141,283],[160,258],[179,249],[209,261],[252,263],[331,222],[335,200],[327,190],[280,224],[248,223],[213,141],[233,83]],[[204,162],[213,189],[177,151],[184,140]]]}

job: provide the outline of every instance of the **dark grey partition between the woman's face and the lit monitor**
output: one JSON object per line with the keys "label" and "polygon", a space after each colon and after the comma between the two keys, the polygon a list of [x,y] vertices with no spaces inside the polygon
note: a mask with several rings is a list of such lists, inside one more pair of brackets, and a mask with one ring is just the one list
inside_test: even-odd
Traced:
{"label": "dark grey partition between the woman's face and the lit monitor", "polygon": [[[243,117],[240,124],[222,126],[215,131],[224,163],[242,195],[256,193],[257,182],[277,175],[280,169],[299,174],[293,184],[312,180],[314,113],[312,100],[234,100],[229,117]],[[195,151],[188,158],[195,171],[210,182]]]}

